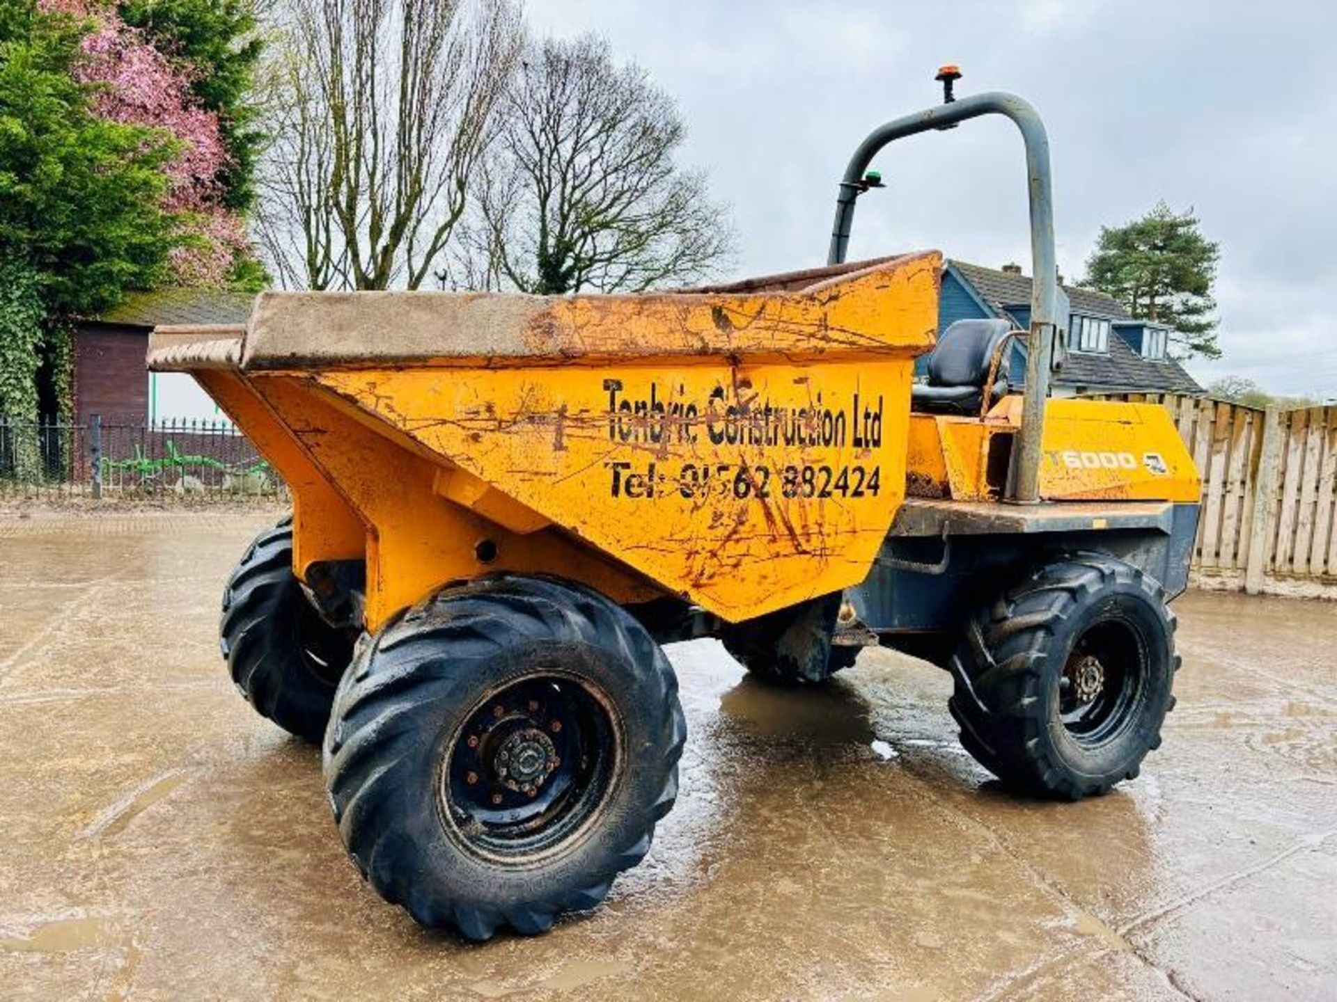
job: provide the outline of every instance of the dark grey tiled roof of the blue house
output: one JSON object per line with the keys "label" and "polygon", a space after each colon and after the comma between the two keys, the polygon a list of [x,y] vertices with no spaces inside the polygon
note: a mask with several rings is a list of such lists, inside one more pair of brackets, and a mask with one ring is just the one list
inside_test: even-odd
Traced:
{"label": "dark grey tiled roof of the blue house", "polygon": [[[964,261],[953,261],[952,267],[975,286],[975,291],[996,313],[1005,313],[1008,306],[1031,302],[1031,277],[985,269]],[[1063,286],[1074,313],[1088,317],[1103,317],[1111,321],[1132,319],[1123,303],[1104,293],[1078,286]],[[1119,337],[1118,329],[1110,331],[1107,353],[1068,351],[1063,367],[1055,373],[1054,382],[1063,386],[1088,386],[1092,390],[1132,390],[1135,393],[1202,393],[1202,387],[1173,358],[1154,362],[1143,358],[1132,346]]]}

